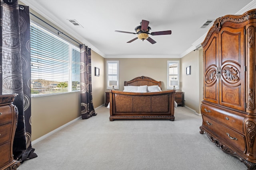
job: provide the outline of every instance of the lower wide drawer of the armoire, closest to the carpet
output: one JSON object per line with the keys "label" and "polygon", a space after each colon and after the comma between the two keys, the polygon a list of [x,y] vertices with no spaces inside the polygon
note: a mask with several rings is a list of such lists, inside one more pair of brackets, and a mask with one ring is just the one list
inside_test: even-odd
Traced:
{"label": "lower wide drawer of the armoire, closest to the carpet", "polygon": [[[218,122],[214,121],[203,115],[203,125],[208,127],[208,129],[212,130],[214,133],[218,134],[218,136],[226,141],[228,145],[234,147],[244,153],[245,150],[245,137],[232,129],[229,129]],[[218,137],[217,137],[218,138]]]}

